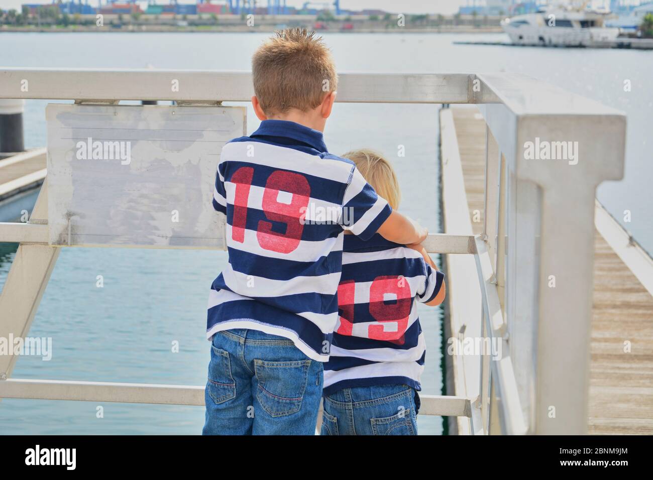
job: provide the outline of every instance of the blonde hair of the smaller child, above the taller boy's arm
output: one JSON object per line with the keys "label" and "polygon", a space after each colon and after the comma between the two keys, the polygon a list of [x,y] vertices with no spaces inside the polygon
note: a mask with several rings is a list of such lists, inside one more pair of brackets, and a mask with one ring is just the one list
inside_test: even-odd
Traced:
{"label": "blonde hair of the smaller child, above the taller boy's arm", "polygon": [[392,164],[383,155],[373,150],[352,150],[342,155],[353,161],[363,178],[372,185],[379,197],[387,200],[393,210],[398,208],[401,200],[399,182]]}

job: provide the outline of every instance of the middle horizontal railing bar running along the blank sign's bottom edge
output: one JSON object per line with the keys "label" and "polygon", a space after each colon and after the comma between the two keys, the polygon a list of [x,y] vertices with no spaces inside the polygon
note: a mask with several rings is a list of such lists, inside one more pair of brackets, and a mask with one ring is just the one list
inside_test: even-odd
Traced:
{"label": "middle horizontal railing bar running along the blank sign's bottom edge", "polygon": [[[34,244],[48,244],[48,225],[38,223],[0,222],[1,242],[29,242]],[[471,235],[453,235],[448,233],[429,234],[423,242],[424,248],[430,253],[475,253],[474,237]],[[59,245],[57,245],[58,247]],[[76,247],[98,248],[184,248],[178,245],[74,245]],[[217,248],[215,248],[217,249]]]}

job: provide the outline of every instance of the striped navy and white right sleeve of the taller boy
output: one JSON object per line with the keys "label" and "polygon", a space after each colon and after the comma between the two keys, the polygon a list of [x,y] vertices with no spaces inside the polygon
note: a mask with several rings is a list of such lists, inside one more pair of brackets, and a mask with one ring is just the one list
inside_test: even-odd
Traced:
{"label": "striped navy and white right sleeve of the taller boy", "polygon": [[388,202],[376,194],[355,167],[342,203],[343,229],[362,240],[372,238],[392,213]]}

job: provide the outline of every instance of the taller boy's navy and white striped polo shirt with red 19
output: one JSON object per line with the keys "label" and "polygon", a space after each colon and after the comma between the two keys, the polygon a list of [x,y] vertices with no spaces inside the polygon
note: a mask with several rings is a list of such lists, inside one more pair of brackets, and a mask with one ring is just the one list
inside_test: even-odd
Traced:
{"label": "taller boy's navy and white striped polo shirt with red 19", "polygon": [[206,334],[252,328],[328,360],[338,321],[343,231],[371,238],[392,211],[322,133],[264,120],[221,152],[215,210],[227,216],[229,264],[214,280]]}

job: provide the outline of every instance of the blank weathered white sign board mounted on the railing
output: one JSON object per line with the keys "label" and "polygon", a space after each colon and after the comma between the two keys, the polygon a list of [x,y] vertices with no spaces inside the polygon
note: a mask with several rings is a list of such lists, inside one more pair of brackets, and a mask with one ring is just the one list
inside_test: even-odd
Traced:
{"label": "blank weathered white sign board mounted on the railing", "polygon": [[50,244],[225,248],[215,171],[244,107],[48,104],[46,118]]}

